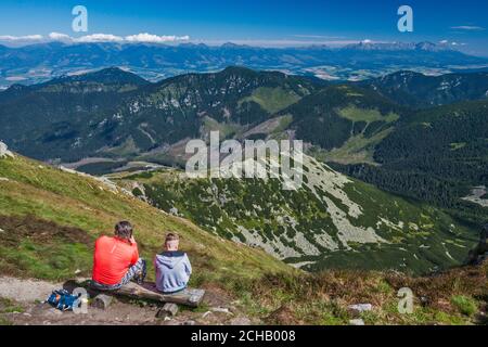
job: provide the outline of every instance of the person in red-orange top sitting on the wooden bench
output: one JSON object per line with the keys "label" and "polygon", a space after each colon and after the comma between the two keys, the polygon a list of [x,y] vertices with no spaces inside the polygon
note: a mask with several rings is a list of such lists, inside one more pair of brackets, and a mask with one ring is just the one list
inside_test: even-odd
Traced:
{"label": "person in red-orange top sitting on the wooden bench", "polygon": [[145,260],[139,257],[132,226],[120,221],[115,226],[115,236],[101,236],[95,242],[92,285],[115,291],[136,280],[139,284],[146,274]]}

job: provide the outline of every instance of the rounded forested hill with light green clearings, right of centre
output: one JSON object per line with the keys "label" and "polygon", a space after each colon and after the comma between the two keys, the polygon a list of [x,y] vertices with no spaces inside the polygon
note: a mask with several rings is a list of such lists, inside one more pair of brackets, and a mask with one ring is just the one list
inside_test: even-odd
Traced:
{"label": "rounded forested hill with light green clearings, right of centre", "polygon": [[313,145],[310,153],[325,162],[375,163],[375,146],[408,114],[373,90],[330,86],[279,113],[290,115],[297,139]]}

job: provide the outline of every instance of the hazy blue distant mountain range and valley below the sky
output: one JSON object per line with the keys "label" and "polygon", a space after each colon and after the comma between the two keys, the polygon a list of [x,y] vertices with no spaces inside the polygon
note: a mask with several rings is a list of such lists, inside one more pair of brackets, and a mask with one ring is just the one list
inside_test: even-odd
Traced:
{"label": "hazy blue distant mountain range and valley below the sky", "polygon": [[152,81],[183,73],[203,73],[242,65],[332,80],[362,80],[398,69],[433,74],[484,68],[488,59],[452,50],[447,44],[369,43],[343,48],[258,48],[183,43],[120,44],[51,42],[20,48],[0,46],[0,86],[39,83],[62,75],[120,66]]}

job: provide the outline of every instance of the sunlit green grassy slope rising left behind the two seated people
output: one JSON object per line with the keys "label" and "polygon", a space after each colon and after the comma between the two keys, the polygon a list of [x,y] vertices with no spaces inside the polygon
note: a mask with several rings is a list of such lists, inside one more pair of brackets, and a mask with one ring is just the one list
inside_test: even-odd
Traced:
{"label": "sunlit green grassy slope rising left behind the two seated people", "polygon": [[194,285],[293,271],[260,250],[209,235],[95,179],[21,156],[0,159],[0,272],[50,280],[73,278],[77,270],[89,275],[95,237],[112,233],[118,220],[134,224],[147,259],[165,232],[179,232],[196,269]]}

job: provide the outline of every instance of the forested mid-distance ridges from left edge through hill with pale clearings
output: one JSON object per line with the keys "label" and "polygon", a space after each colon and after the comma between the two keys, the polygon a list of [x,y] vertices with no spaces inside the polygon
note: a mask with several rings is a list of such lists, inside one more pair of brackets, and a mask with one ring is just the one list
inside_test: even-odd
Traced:
{"label": "forested mid-distance ridges from left edge through hill with pale clearings", "polygon": [[157,83],[110,68],[15,85],[0,93],[0,104],[3,141],[61,162],[95,156],[166,164],[181,155],[180,141],[206,139],[210,130],[236,139],[295,136],[325,151],[352,138],[371,157],[406,113],[371,90],[242,67]]}

